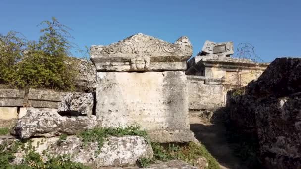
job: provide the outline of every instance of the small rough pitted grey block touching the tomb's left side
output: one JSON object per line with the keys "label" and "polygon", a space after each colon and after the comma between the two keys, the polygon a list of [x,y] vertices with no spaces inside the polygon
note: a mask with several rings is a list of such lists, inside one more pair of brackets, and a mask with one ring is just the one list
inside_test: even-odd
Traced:
{"label": "small rough pitted grey block touching the tomb's left side", "polygon": [[68,93],[58,106],[57,112],[71,115],[92,115],[93,93]]}

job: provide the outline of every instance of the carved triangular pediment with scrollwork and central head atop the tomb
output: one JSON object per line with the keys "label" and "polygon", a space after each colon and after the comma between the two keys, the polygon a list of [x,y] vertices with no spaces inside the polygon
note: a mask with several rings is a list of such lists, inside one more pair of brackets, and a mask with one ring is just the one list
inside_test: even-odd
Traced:
{"label": "carved triangular pediment with scrollwork and central head atop the tomb", "polygon": [[91,60],[97,71],[186,70],[192,45],[186,36],[174,44],[138,33],[108,46],[92,46]]}

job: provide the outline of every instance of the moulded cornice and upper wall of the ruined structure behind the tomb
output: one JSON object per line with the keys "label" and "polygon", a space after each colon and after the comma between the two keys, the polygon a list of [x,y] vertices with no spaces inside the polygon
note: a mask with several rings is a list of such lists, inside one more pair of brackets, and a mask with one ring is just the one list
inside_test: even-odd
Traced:
{"label": "moulded cornice and upper wall of the ruined structure behind the tomb", "polygon": [[228,86],[246,86],[256,80],[268,66],[267,63],[217,55],[195,56],[187,65],[187,75],[223,78],[223,84]]}

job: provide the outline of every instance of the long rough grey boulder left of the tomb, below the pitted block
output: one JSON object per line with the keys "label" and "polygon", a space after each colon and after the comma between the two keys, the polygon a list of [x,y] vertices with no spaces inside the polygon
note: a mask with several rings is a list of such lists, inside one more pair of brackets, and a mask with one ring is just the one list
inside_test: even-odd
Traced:
{"label": "long rough grey boulder left of the tomb, below the pitted block", "polygon": [[21,139],[32,136],[53,137],[61,134],[74,135],[92,129],[97,124],[95,116],[66,117],[57,112],[30,108],[18,120],[15,131]]}

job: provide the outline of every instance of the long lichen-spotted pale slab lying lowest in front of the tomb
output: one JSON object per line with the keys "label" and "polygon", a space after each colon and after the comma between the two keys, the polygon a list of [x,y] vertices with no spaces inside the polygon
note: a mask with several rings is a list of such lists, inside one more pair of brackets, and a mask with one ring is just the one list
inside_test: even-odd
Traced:
{"label": "long lichen-spotted pale slab lying lowest in front of the tomb", "polygon": [[[47,159],[42,153],[52,157],[69,154],[71,161],[84,163],[85,165],[101,166],[130,166],[135,165],[139,158],[152,158],[153,150],[145,138],[140,136],[108,137],[103,142],[99,154],[98,143],[90,142],[83,146],[82,138],[68,136],[66,140],[60,141],[59,137],[33,138],[32,146],[37,147],[36,152],[43,159]],[[43,141],[42,141],[43,140]],[[43,142],[43,144],[40,144]],[[29,144],[29,143],[26,143]],[[22,163],[24,151],[15,154],[14,164]]]}

